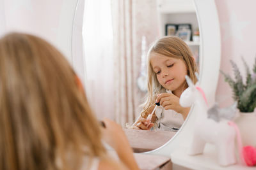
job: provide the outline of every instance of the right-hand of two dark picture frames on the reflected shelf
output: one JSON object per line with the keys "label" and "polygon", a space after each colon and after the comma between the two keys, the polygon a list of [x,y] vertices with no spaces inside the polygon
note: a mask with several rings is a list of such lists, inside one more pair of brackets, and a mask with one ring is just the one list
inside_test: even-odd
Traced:
{"label": "right-hand of two dark picture frames on the reflected shelf", "polygon": [[191,24],[179,24],[176,36],[181,38],[183,41],[192,41],[192,27]]}

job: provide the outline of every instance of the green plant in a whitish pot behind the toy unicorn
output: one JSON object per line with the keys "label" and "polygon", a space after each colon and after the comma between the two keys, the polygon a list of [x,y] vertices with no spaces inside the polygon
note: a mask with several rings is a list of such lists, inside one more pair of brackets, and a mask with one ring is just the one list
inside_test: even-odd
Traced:
{"label": "green plant in a whitish pot behind the toy unicorn", "polygon": [[[239,117],[234,121],[241,131],[241,138],[244,145],[256,146],[256,134],[252,134],[253,129],[256,129],[256,58],[253,64],[252,72],[248,64],[242,58],[246,69],[246,81],[243,82],[243,77],[236,63],[230,60],[234,71],[234,79],[230,75],[220,71],[230,85],[233,92],[233,99],[237,101]],[[250,133],[249,133],[250,132]]]}

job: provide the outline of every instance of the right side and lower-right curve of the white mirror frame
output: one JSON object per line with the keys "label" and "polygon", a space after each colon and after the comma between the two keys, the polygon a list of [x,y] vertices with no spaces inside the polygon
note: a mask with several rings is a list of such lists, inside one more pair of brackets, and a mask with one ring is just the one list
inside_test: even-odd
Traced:
{"label": "right side and lower-right curve of the white mirror frame", "polygon": [[[194,0],[194,3],[200,31],[199,85],[205,92],[209,106],[212,106],[215,101],[221,59],[220,23],[214,0]],[[170,141],[156,150],[145,153],[170,157],[174,150],[189,146],[198,111],[200,108],[192,107],[184,125]]]}

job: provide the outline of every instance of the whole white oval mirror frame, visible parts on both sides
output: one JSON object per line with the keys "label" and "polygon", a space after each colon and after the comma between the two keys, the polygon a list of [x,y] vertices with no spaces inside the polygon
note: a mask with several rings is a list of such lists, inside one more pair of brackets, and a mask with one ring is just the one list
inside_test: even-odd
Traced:
{"label": "whole white oval mirror frame, visible parts on both sides", "polygon": [[[84,2],[78,0],[76,13],[72,25],[72,65],[81,79],[85,78],[84,53],[83,53],[83,11]],[[215,101],[215,92],[218,83],[220,57],[221,57],[221,36],[220,24],[216,4],[214,0],[194,0],[198,26],[200,31],[200,87],[211,106]],[[204,29],[202,29],[204,28]],[[145,154],[164,155],[170,157],[171,153],[180,146],[188,146],[194,131],[194,122],[198,108],[191,108],[184,125],[175,136],[166,144],[145,152]]]}

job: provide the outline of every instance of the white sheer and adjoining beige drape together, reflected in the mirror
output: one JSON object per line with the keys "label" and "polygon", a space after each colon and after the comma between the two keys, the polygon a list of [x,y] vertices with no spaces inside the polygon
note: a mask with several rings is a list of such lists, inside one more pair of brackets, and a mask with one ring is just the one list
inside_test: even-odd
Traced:
{"label": "white sheer and adjoining beige drape together, reflected in the mirror", "polygon": [[83,37],[85,87],[93,110],[97,117],[112,118],[123,127],[132,123],[132,1],[86,1]]}

